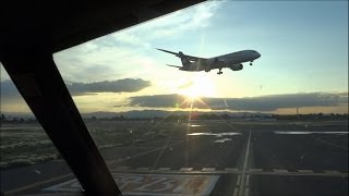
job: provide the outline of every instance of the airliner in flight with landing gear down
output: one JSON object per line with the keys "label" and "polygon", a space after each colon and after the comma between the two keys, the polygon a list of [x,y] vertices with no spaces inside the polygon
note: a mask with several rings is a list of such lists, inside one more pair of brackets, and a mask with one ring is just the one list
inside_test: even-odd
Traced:
{"label": "airliner in flight with landing gear down", "polygon": [[219,71],[217,74],[222,74],[221,69],[224,68],[229,68],[232,71],[242,70],[243,62],[250,62],[250,65],[252,65],[252,62],[261,57],[261,54],[254,50],[241,50],[208,59],[186,56],[181,51],[177,53],[164,49],[158,50],[172,53],[181,59],[182,66],[167,64],[169,66],[179,68],[179,70],[189,72],[209,72],[210,70],[218,69]]}

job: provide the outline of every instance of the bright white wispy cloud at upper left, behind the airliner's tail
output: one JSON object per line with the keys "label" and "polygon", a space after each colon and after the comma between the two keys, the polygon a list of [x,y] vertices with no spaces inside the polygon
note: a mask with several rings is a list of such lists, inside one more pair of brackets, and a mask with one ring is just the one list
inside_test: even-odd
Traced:
{"label": "bright white wispy cloud at upper left, behind the airliner's tail", "polygon": [[176,35],[181,36],[185,30],[195,32],[209,26],[209,19],[220,4],[218,1],[201,3],[106,35],[55,53],[55,62],[64,81],[151,79],[148,73],[158,71],[159,65],[164,64],[154,58],[156,52],[153,45],[163,46],[160,42]]}

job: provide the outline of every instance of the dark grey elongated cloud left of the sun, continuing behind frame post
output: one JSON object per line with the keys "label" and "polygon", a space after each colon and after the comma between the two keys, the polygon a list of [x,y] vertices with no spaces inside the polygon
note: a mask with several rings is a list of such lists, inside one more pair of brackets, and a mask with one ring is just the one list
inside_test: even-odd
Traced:
{"label": "dark grey elongated cloud left of the sun, continuing behind frame post", "polygon": [[[134,93],[151,86],[149,81],[142,78],[123,78],[94,83],[68,83],[67,87],[73,96],[94,93]],[[12,81],[1,82],[1,99],[19,99],[21,97]]]}

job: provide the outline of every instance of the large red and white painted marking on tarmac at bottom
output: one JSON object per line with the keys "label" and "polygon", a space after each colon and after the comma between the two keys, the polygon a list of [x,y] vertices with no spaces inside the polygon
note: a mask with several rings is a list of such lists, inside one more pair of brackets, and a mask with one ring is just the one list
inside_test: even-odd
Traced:
{"label": "large red and white painted marking on tarmac at bottom", "polygon": [[[209,195],[219,175],[125,174],[112,173],[124,195]],[[76,179],[44,188],[45,192],[73,192],[82,189]]]}

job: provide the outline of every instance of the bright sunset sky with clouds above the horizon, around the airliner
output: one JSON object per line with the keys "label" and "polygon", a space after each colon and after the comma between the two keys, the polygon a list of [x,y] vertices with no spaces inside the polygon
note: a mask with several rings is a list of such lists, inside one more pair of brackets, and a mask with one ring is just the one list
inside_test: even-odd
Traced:
{"label": "bright sunset sky with clouds above the horizon, around the airliner", "polygon": [[[161,48],[241,71],[183,72]],[[348,1],[208,1],[57,52],[81,112],[144,109],[348,113]],[[29,111],[1,65],[1,112]]]}

